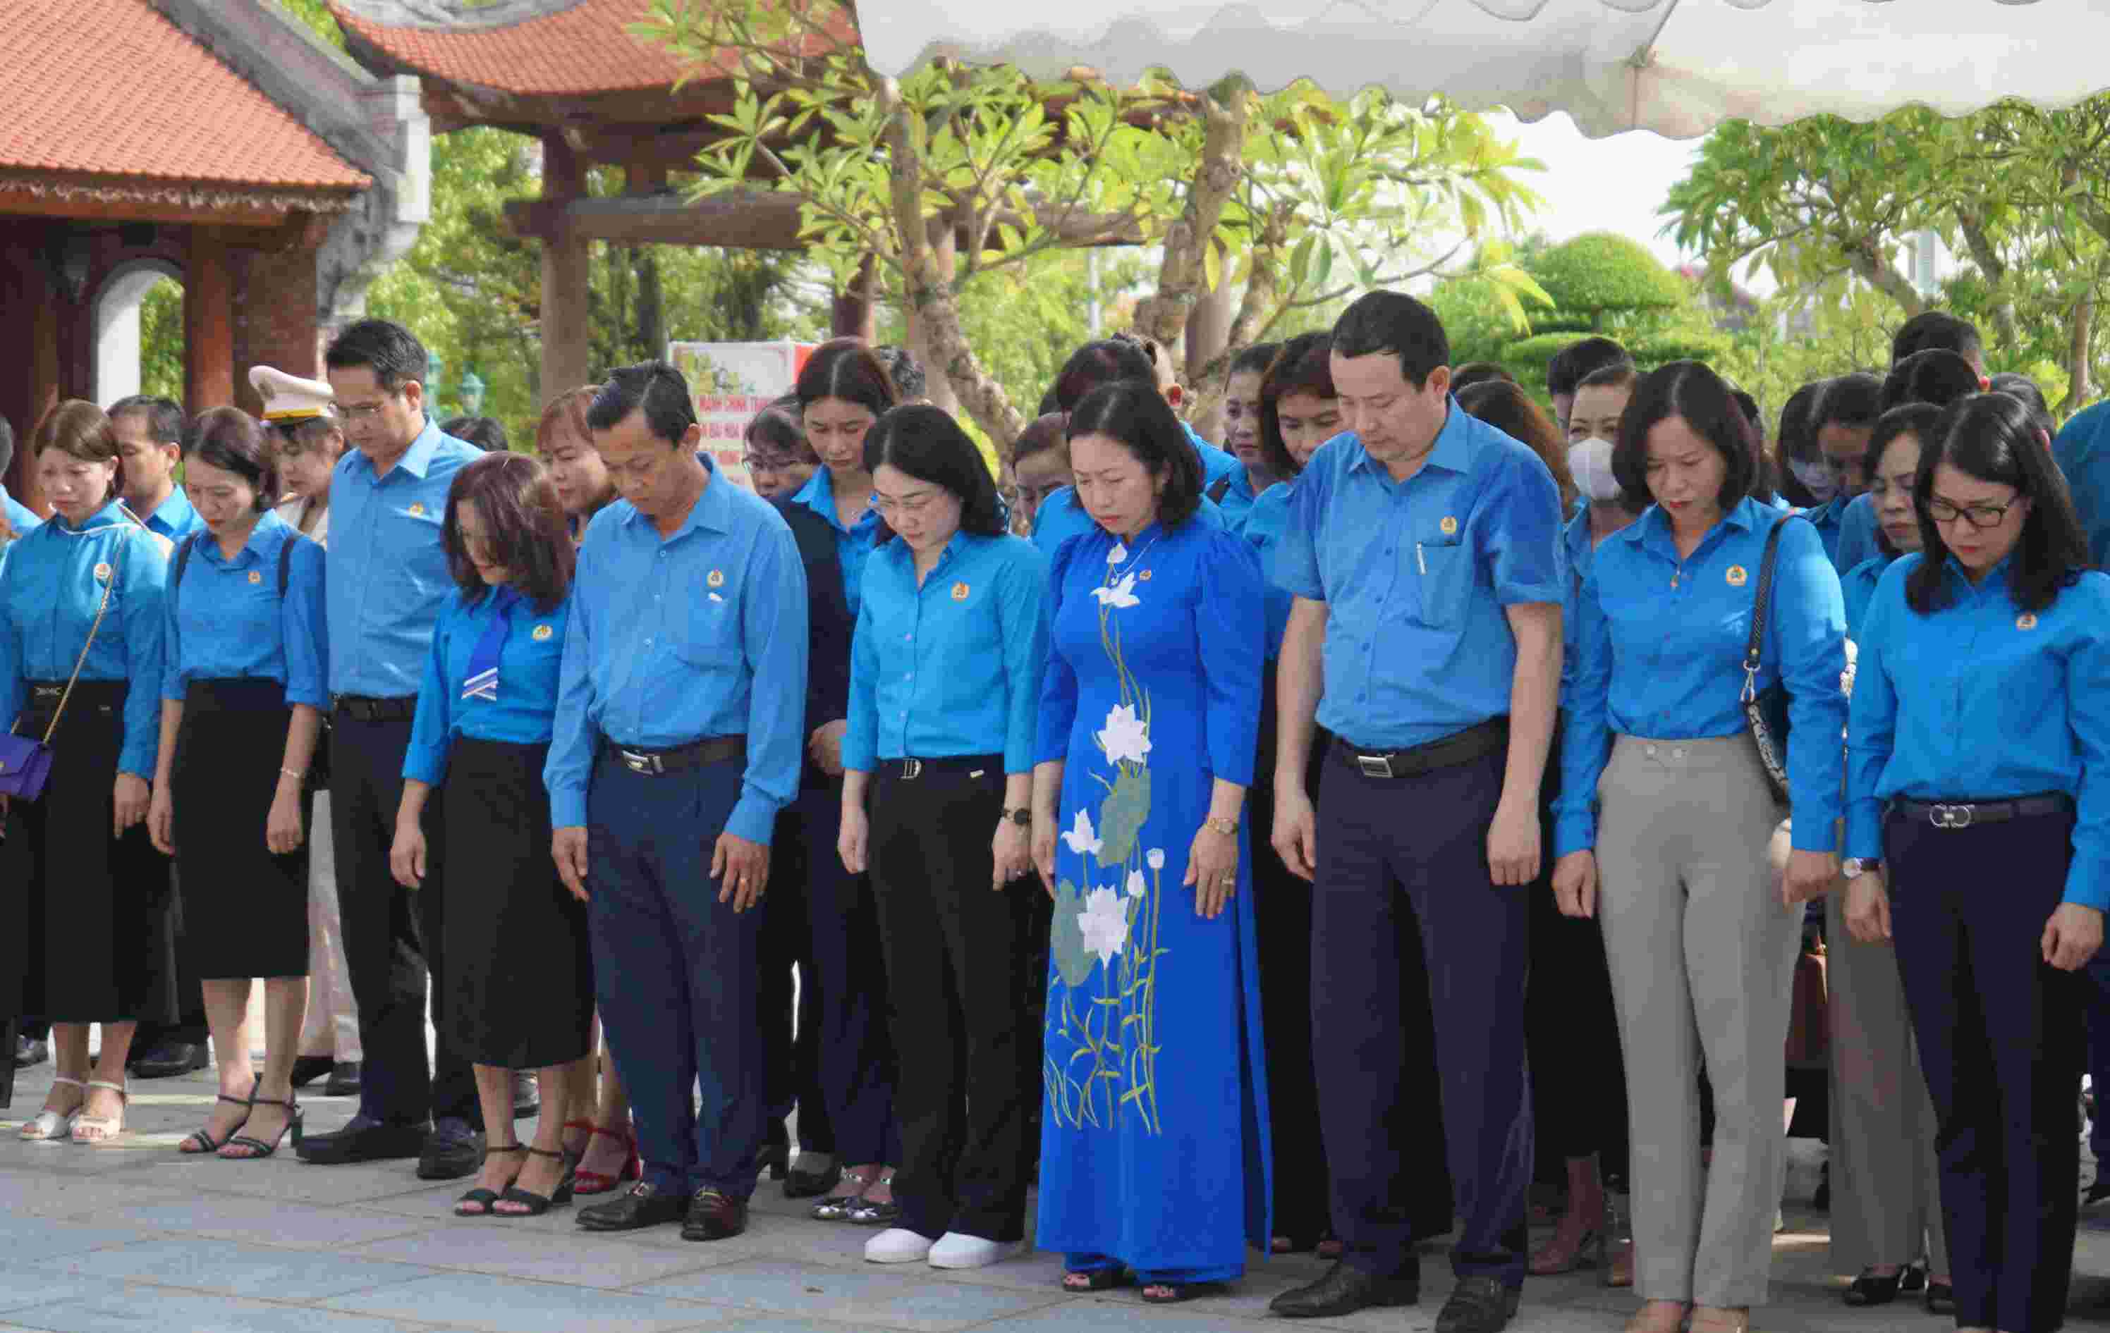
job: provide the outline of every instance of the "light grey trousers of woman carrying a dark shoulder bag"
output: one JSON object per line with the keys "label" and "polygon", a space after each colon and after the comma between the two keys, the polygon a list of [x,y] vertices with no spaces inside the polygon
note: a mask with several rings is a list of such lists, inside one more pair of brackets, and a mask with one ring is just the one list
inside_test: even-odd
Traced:
{"label": "light grey trousers of woman carrying a dark shoulder bag", "polygon": [[[1783,812],[1749,736],[1618,736],[1597,799],[1597,917],[1627,1055],[1633,1289],[1762,1306],[1802,943],[1802,909],[1781,907],[1766,863]],[[1701,1166],[1703,1059],[1711,1171]]]}

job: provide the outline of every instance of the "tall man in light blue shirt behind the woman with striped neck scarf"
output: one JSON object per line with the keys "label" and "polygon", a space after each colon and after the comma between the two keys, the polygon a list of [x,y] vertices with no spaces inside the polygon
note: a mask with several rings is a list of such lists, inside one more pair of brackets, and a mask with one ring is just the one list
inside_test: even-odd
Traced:
{"label": "tall man in light blue shirt behind the woman with striped neck scarf", "polygon": [[[418,1156],[420,1179],[458,1179],[481,1162],[483,1116],[471,1065],[447,1040],[441,804],[426,804],[424,888],[395,882],[388,850],[433,624],[454,591],[439,542],[447,489],[483,451],[426,416],[430,361],[409,329],[361,321],[329,344],[323,365],[352,445],[329,481],[325,618],[338,911],[365,1067],[352,1122],[302,1139],[298,1152],[304,1162]],[[428,977],[439,1029],[430,1063]]]}

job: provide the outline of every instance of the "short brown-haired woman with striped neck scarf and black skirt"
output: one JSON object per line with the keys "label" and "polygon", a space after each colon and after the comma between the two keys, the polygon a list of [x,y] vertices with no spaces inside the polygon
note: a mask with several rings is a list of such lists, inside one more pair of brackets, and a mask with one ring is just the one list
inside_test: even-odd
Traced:
{"label": "short brown-haired woman with striped neck scarf and black skirt", "polygon": [[584,896],[549,856],[542,785],[576,555],[549,472],[490,453],[447,489],[441,544],[456,593],[439,612],[403,757],[390,869],[424,882],[424,806],[437,787],[452,854],[445,1015],[477,1067],[492,1137],[513,1139],[513,1069],[534,1069],[542,1116],[532,1145],[492,1143],[462,1217],[528,1217],[572,1200],[565,1105],[593,1050],[593,962]]}

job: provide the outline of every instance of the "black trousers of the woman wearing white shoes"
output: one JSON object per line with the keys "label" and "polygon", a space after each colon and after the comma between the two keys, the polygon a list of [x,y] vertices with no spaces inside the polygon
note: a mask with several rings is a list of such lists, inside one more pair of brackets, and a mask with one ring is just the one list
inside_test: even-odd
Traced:
{"label": "black trousers of the woman wearing white shoes", "polygon": [[1023,880],[990,886],[1004,761],[924,761],[871,791],[871,884],[893,1000],[901,1225],[937,1238],[1025,1236],[1028,1078]]}

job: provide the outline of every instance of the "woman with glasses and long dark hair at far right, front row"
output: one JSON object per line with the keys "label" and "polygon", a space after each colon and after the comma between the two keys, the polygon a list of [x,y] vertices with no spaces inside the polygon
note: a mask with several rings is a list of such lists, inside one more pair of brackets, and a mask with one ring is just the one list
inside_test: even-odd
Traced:
{"label": "woman with glasses and long dark hair at far right, front row", "polygon": [[1943,411],[1914,506],[1922,548],[1861,622],[1846,924],[1897,947],[1956,1322],[2042,1333],[2072,1280],[2076,970],[2110,905],[2110,576],[2009,394]]}

